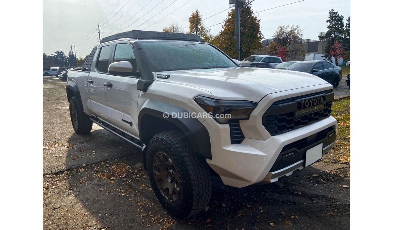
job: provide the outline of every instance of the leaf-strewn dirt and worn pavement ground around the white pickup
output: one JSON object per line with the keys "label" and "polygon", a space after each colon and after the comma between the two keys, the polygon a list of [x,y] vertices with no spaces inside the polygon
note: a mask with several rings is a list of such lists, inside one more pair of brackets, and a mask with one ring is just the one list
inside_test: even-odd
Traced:
{"label": "leaf-strewn dirt and worn pavement ground around the white pickup", "polygon": [[171,217],[140,151],[95,124],[87,136],[74,133],[65,85],[44,77],[44,229],[350,228],[350,166],[333,153],[265,186],[232,188],[214,178],[203,212]]}

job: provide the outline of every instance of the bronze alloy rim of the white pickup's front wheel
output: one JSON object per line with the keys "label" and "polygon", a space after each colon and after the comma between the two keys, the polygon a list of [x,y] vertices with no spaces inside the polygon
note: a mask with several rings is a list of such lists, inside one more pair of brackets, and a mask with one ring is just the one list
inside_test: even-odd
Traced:
{"label": "bronze alloy rim of the white pickup's front wheel", "polygon": [[181,191],[180,177],[174,162],[162,151],[154,155],[153,175],[164,198],[169,202],[177,202]]}

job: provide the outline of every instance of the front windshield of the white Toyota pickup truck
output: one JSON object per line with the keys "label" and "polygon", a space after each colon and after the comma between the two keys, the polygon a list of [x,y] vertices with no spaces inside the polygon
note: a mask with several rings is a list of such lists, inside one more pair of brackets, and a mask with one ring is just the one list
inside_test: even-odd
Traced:
{"label": "front windshield of the white Toyota pickup truck", "polygon": [[238,67],[207,43],[185,41],[141,41],[155,72]]}

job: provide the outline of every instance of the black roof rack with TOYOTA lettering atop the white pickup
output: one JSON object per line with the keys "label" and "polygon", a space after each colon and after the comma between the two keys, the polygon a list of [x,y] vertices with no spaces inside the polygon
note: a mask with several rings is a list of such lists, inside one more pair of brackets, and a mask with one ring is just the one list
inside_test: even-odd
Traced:
{"label": "black roof rack with TOYOTA lettering atop the white pickup", "polygon": [[115,35],[104,37],[103,39],[101,39],[100,43],[110,42],[110,41],[122,39],[122,38],[187,40],[187,41],[204,42],[204,40],[201,37],[199,37],[195,34],[165,33],[165,32],[157,32],[157,31],[132,30],[132,31],[117,33]]}

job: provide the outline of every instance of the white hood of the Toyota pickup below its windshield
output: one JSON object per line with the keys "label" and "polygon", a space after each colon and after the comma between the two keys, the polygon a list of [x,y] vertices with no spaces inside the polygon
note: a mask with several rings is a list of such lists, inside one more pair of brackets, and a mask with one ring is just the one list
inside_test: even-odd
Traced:
{"label": "white hood of the Toyota pickup below its windshield", "polygon": [[[169,75],[167,79],[158,74]],[[258,102],[264,96],[327,81],[312,74],[267,68],[210,68],[156,72],[156,81],[167,81],[206,90],[216,99]]]}

